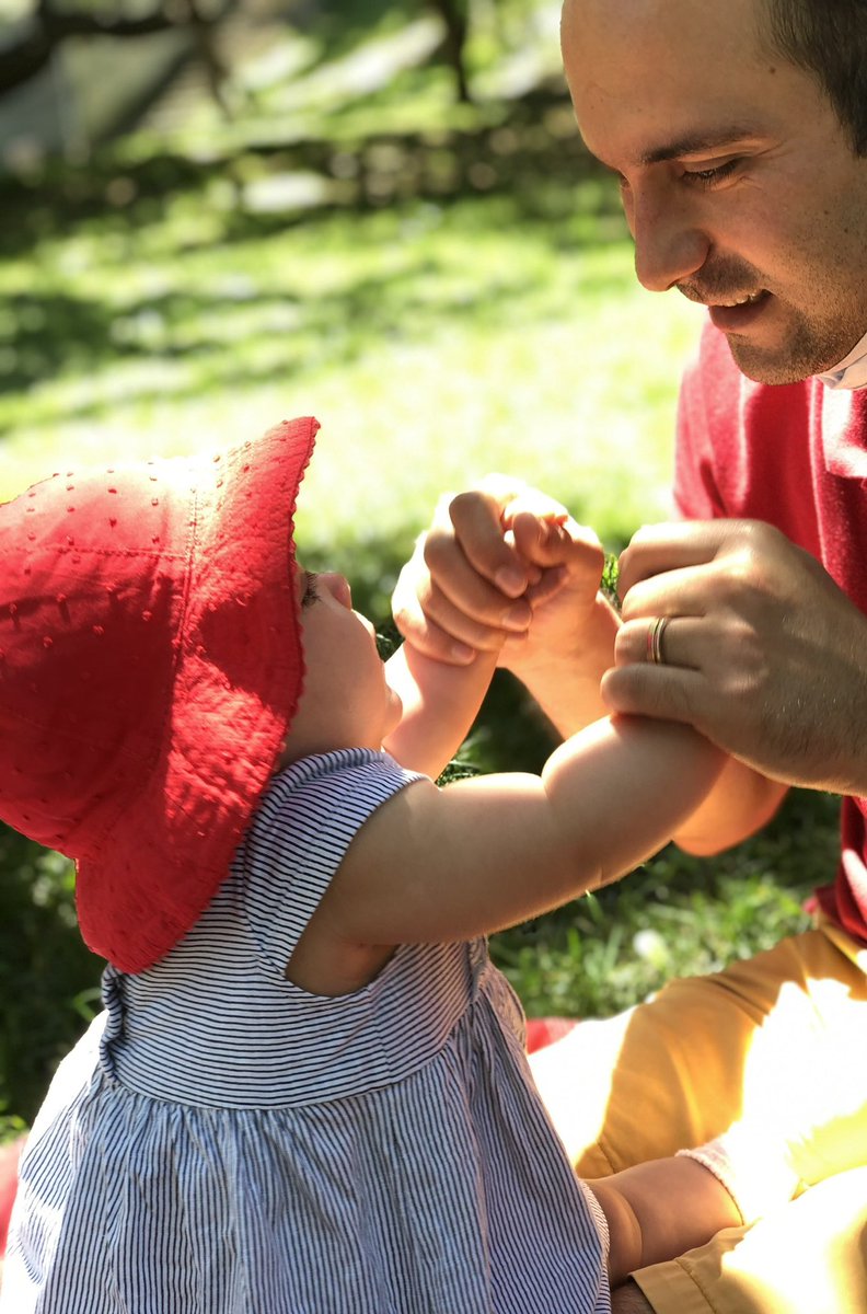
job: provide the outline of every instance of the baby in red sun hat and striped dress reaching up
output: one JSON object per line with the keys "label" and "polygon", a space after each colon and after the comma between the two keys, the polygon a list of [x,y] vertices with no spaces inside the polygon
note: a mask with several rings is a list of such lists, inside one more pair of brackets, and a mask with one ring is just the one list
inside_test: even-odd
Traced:
{"label": "baby in red sun hat and striped dress reaching up", "polygon": [[[657,850],[721,756],[600,720],[541,777],[437,788],[494,657],[384,666],[297,562],[315,431],[0,507],[0,815],[76,859],[108,959],[3,1314],[603,1311],[741,1222],[704,1152],[574,1176],[485,942]],[[591,598],[600,549],[573,556]]]}

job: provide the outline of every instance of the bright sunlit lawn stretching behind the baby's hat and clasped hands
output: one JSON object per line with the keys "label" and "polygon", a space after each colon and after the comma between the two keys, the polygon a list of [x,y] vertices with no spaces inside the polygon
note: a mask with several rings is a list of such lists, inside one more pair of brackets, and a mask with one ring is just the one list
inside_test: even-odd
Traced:
{"label": "bright sunlit lawn stretching behind the baby's hat and clasped hands", "polygon": [[490,469],[620,540],[665,514],[698,319],[636,285],[623,238],[577,239],[598,200],[591,183],[550,226],[504,201],[419,202],[231,243],[225,215],[181,196],[139,233],[93,221],[45,242],[35,290],[24,263],[0,288],[30,314],[54,302],[79,344],[0,399],[3,489],[72,453],[193,451],[314,413],[305,511],[322,551],[360,523],[407,539],[441,490]]}

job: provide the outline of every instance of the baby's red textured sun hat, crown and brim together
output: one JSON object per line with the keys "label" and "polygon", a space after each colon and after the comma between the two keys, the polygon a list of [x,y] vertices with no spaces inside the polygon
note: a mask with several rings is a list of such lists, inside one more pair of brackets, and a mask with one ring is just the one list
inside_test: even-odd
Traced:
{"label": "baby's red textured sun hat, crown and brim together", "polygon": [[125,971],[209,903],[297,707],[317,428],[0,506],[0,817],[75,858],[81,934]]}

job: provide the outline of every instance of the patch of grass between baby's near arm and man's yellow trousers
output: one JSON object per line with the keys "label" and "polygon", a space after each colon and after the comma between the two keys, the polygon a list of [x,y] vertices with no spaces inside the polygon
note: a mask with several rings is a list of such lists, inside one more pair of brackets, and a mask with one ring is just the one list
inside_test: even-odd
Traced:
{"label": "patch of grass between baby's near arm and man's yellow trousers", "polygon": [[[491,954],[531,1017],[608,1017],[677,976],[720,971],[811,926],[833,880],[839,802],[793,790],[761,834],[713,858],[674,845],[595,895],[495,936]],[[617,799],[600,825],[621,824]]]}

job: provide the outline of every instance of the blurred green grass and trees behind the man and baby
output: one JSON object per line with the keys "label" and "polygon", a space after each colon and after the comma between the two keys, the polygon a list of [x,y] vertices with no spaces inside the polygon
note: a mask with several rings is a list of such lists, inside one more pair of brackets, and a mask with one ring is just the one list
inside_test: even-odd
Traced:
{"label": "blurred green grass and trees behind the man and baby", "polygon": [[[490,469],[616,552],[663,518],[699,327],[632,272],[552,0],[0,0],[0,497],[54,469],[323,423],[300,539],[388,615],[439,494]],[[499,677],[466,770],[549,729]],[[495,938],[531,1014],[604,1014],[807,924],[837,803],[667,849]],[[620,824],[611,799],[599,825]],[[70,865],[0,828],[0,1134],[99,1007]]]}

